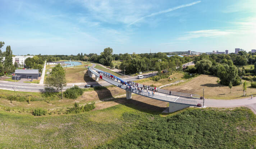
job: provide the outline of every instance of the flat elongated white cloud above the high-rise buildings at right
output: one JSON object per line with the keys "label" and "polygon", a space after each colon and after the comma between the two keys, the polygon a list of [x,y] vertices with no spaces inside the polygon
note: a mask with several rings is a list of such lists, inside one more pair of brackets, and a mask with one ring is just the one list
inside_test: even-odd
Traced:
{"label": "flat elongated white cloud above the high-rise buildings at right", "polygon": [[219,30],[219,29],[207,29],[207,30],[199,30],[188,32],[188,34],[179,37],[179,40],[189,40],[192,38],[200,38],[200,37],[219,37],[226,36],[229,34],[235,34],[236,32],[233,30]]}

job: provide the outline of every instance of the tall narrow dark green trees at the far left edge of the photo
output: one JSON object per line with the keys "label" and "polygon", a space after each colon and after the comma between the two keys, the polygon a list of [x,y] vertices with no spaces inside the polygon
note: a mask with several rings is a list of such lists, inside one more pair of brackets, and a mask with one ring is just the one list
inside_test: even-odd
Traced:
{"label": "tall narrow dark green trees at the far left edge of the photo", "polygon": [[[10,46],[6,46],[6,51],[2,52],[4,42],[0,41],[0,76],[5,73],[13,73],[15,71],[15,66],[13,65],[13,52]],[[5,60],[3,61],[3,57]]]}

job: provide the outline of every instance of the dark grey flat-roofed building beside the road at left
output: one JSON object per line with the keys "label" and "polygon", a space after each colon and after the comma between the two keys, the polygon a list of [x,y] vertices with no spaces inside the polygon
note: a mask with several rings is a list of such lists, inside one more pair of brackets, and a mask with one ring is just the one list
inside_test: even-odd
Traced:
{"label": "dark grey flat-roofed building beside the road at left", "polygon": [[16,69],[15,75],[19,75],[21,79],[38,79],[38,69]]}

